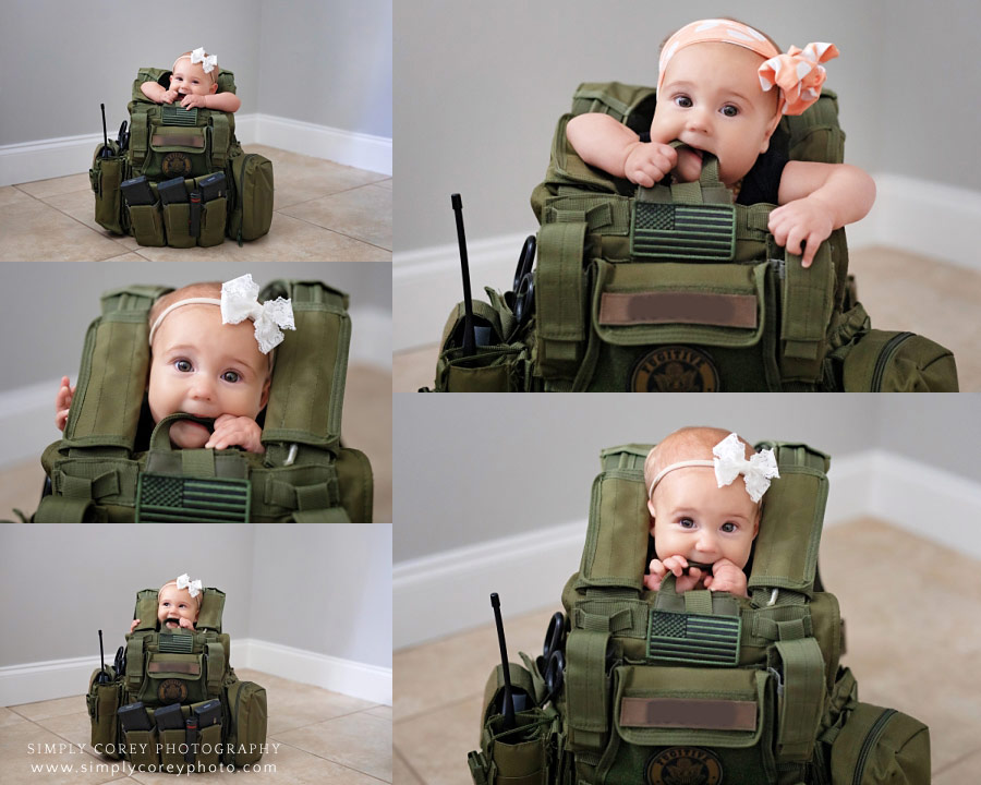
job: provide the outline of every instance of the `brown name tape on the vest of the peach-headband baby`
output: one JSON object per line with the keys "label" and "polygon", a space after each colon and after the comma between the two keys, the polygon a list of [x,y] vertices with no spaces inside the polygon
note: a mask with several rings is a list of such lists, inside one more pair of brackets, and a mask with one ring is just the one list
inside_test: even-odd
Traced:
{"label": "brown name tape on the vest of the peach-headband baby", "polygon": [[699,324],[718,327],[756,327],[753,294],[711,292],[604,292],[600,324]]}

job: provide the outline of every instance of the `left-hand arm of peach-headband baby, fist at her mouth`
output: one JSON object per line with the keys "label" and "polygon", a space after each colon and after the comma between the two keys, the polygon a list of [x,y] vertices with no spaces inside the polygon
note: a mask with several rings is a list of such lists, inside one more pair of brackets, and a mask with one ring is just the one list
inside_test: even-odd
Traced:
{"label": "left-hand arm of peach-headband baby, fist at her mouth", "polygon": [[566,138],[579,157],[614,177],[651,188],[678,164],[674,147],[644,143],[609,114],[579,114],[566,124]]}

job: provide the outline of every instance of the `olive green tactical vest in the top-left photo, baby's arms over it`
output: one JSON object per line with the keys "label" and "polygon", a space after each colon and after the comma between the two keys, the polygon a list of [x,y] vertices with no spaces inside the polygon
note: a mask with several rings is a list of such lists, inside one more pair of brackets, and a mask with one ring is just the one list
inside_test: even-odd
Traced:
{"label": "olive green tactical vest in the top-left photo, baby's arms over it", "polygon": [[[183,109],[155,104],[141,89],[144,82],[167,86],[164,69],[141,69],[133,82],[129,148],[110,141],[111,155],[101,158],[100,143],[89,169],[96,195],[96,222],[114,234],[132,234],[141,245],[191,247],[216,245],[226,237],[241,244],[269,231],[272,220],[272,164],[258,154],[243,154],[235,138],[233,112]],[[219,93],[234,93],[234,74],[222,70]],[[183,177],[187,193],[210,174],[225,172],[227,195],[202,204],[199,231],[190,233],[190,203],[164,205],[157,185]],[[125,180],[146,176],[157,200],[128,205],[120,191]]]}

